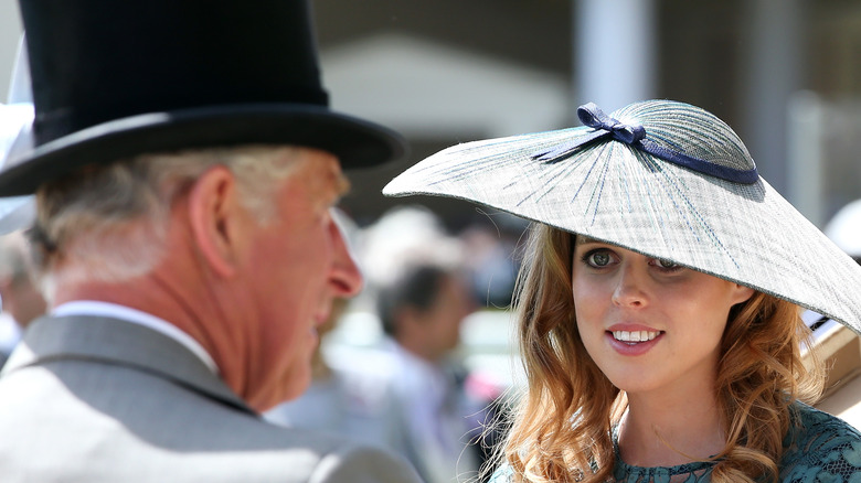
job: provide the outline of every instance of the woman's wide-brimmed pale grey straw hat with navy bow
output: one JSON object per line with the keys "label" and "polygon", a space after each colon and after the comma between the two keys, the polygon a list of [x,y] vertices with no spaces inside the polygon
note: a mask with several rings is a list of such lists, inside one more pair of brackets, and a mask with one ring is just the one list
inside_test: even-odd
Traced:
{"label": "woman's wide-brimmed pale grey straw hat with navy bow", "polygon": [[467,142],[383,194],[463,198],[789,300],[861,334],[861,267],[758,176],[736,133],[648,100],[583,127]]}

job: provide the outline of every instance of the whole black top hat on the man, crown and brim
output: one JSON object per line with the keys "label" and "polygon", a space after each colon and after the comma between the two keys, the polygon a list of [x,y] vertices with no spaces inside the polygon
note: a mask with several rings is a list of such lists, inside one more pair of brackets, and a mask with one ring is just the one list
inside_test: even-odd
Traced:
{"label": "whole black top hat on the man, crown and brim", "polygon": [[145,152],[291,143],[344,168],[405,153],[397,133],[328,108],[306,0],[19,3],[35,149],[0,172],[0,196]]}

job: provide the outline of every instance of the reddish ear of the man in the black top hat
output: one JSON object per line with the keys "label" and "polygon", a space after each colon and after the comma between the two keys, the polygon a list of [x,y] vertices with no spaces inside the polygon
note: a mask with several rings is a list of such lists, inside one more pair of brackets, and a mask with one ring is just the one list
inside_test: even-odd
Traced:
{"label": "reddish ear of the man in the black top hat", "polygon": [[236,272],[243,245],[242,225],[248,216],[233,173],[221,165],[203,173],[188,196],[191,233],[203,259],[222,277]]}

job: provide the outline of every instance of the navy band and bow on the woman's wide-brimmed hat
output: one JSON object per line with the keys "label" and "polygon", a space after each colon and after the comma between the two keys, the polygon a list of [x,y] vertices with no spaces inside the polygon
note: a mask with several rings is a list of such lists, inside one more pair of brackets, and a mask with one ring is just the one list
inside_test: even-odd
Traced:
{"label": "navy band and bow on the woman's wide-brimmed hat", "polygon": [[750,170],[736,170],[735,168],[715,164],[683,152],[665,148],[646,138],[646,129],[641,125],[626,125],[604,114],[594,103],[584,104],[577,108],[577,117],[585,126],[594,128],[587,136],[559,146],[556,148],[538,152],[532,159],[555,163],[570,158],[578,148],[592,141],[612,138],[624,142],[631,148],[639,149],[656,158],[669,161],[673,164],[688,168],[699,173],[741,184],[753,184],[759,179],[756,168]]}

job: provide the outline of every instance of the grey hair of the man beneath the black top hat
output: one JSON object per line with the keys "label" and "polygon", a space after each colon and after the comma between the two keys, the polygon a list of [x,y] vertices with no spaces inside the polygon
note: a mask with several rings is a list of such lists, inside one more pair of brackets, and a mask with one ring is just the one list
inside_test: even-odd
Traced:
{"label": "grey hair of the man beneath the black top hat", "polygon": [[42,185],[31,238],[45,289],[149,272],[167,248],[171,205],[215,165],[231,170],[241,202],[268,223],[279,182],[299,159],[298,148],[270,146],[141,154]]}

